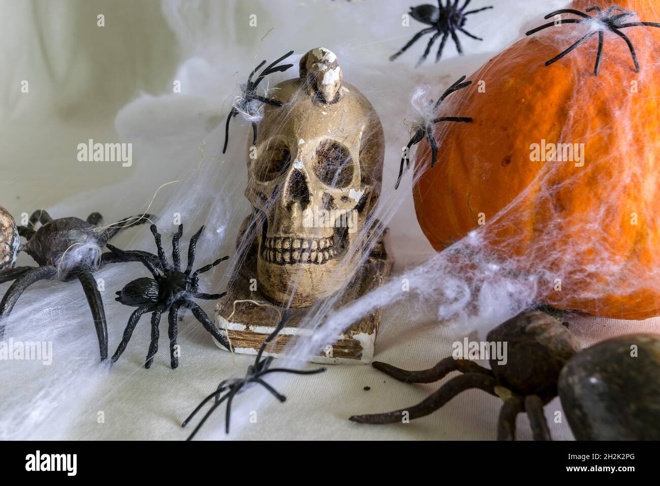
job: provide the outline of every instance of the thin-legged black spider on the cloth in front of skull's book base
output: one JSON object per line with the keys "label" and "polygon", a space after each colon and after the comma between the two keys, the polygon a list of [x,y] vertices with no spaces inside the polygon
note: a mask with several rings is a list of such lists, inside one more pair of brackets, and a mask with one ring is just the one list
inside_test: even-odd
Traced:
{"label": "thin-legged black spider on the cloth in front of skull's book base", "polygon": [[[275,337],[282,331],[284,328],[284,325],[286,324],[286,321],[288,321],[289,318],[289,311],[284,311],[282,313],[282,319],[280,320],[279,324],[275,328],[275,331],[273,331],[269,337],[267,337],[264,341],[263,344],[261,344],[261,348],[259,348],[259,352],[257,352],[257,356],[254,358],[254,364],[251,366],[248,366],[248,372],[246,372],[246,376],[244,378],[230,378],[229,380],[223,380],[220,382],[218,385],[217,389],[211,393],[211,395],[207,396],[205,399],[201,401],[199,405],[193,410],[193,413],[189,415],[185,421],[182,423],[182,427],[185,427],[188,425],[188,423],[195,417],[195,414],[201,410],[201,408],[208,403],[209,400],[211,400],[213,397],[215,397],[215,403],[213,404],[213,407],[209,409],[209,411],[204,415],[204,418],[201,419],[199,424],[195,427],[195,430],[191,432],[191,434],[188,436],[187,440],[191,440],[195,434],[197,434],[197,431],[201,428],[201,426],[204,425],[204,423],[211,417],[211,414],[215,411],[216,408],[218,408],[223,401],[227,401],[227,409],[226,409],[226,414],[225,414],[225,424],[224,424],[224,430],[228,434],[229,433],[229,423],[230,423],[230,417],[232,413],[232,399],[234,399],[234,395],[237,393],[241,393],[242,391],[246,391],[249,387],[251,387],[254,384],[259,384],[263,386],[265,389],[273,393],[275,398],[277,398],[279,401],[286,401],[286,397],[282,395],[281,393],[278,393],[275,388],[273,388],[271,385],[267,384],[265,381],[263,381],[261,378],[269,373],[293,373],[293,374],[298,374],[298,375],[313,375],[317,373],[322,373],[325,371],[325,368],[316,368],[315,370],[291,370],[289,368],[269,368],[271,366],[271,363],[273,362],[273,359],[275,359],[273,356],[269,356],[265,359],[261,359],[261,355],[263,354],[266,346],[275,339]],[[222,397],[220,397],[220,393],[223,391],[226,391]]]}

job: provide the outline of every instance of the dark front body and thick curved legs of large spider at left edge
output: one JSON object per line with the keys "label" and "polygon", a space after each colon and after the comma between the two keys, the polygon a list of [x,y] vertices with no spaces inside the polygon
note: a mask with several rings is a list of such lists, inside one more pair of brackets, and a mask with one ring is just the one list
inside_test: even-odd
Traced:
{"label": "dark front body and thick curved legs of large spider at left edge", "polygon": [[[53,220],[44,210],[35,211],[28,226],[19,226],[18,233],[27,240],[21,250],[30,255],[39,266],[17,266],[0,270],[0,284],[14,280],[0,302],[0,339],[5,333],[5,318],[9,317],[21,294],[39,280],[68,282],[77,278],[82,285],[98,337],[101,360],[108,357],[108,326],[103,300],[92,272],[108,263],[136,261],[119,259],[112,253],[101,254],[108,240],[131,225],[143,224],[151,216],[131,216],[125,220],[101,227],[103,217],[92,213],[86,221],[79,218]],[[36,229],[36,224],[41,227]]]}

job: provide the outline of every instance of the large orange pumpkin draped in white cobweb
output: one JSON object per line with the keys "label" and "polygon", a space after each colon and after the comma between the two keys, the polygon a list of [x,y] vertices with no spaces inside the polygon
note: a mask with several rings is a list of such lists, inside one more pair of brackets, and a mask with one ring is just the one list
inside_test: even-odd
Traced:
{"label": "large orange pumpkin draped in white cobweb", "polygon": [[[611,7],[579,0],[573,8],[594,4]],[[650,2],[618,5],[660,20]],[[523,38],[440,106],[438,116],[474,120],[434,130],[433,169],[420,143],[415,210],[438,251],[483,231],[494,261],[541,277],[546,304],[644,319],[660,313],[660,28],[626,29],[640,73],[626,42],[607,31],[599,75],[598,35],[545,65],[586,32],[563,24]],[[568,148],[552,157],[548,143],[583,143],[582,162]]]}

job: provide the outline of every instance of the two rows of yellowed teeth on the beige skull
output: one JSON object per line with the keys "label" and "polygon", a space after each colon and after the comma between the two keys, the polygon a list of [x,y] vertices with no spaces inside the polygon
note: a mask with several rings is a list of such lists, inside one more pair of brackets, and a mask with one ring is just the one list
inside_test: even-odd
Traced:
{"label": "two rows of yellowed teeth on the beige skull", "polygon": [[267,237],[261,247],[261,257],[267,263],[280,265],[294,263],[321,264],[337,257],[335,237],[306,239],[295,237]]}

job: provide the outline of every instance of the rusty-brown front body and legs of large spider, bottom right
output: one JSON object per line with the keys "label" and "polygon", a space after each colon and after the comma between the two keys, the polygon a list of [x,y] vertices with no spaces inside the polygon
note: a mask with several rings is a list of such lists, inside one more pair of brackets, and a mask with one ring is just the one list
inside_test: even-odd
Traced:
{"label": "rusty-brown front body and legs of large spider, bottom right", "polygon": [[490,358],[490,370],[453,356],[433,368],[413,372],[374,362],[374,368],[407,383],[436,382],[452,371],[463,374],[449,380],[418,405],[377,415],[354,415],[350,420],[370,424],[395,423],[401,421],[404,412],[408,412],[411,419],[424,417],[462,391],[477,388],[504,401],[498,423],[498,440],[515,438],[515,418],[521,412],[527,413],[535,439],[550,440],[543,406],[557,396],[560,372],[579,352],[578,341],[559,321],[541,311],[527,311],[513,317],[490,331],[487,339],[490,343],[508,343],[506,362]]}

